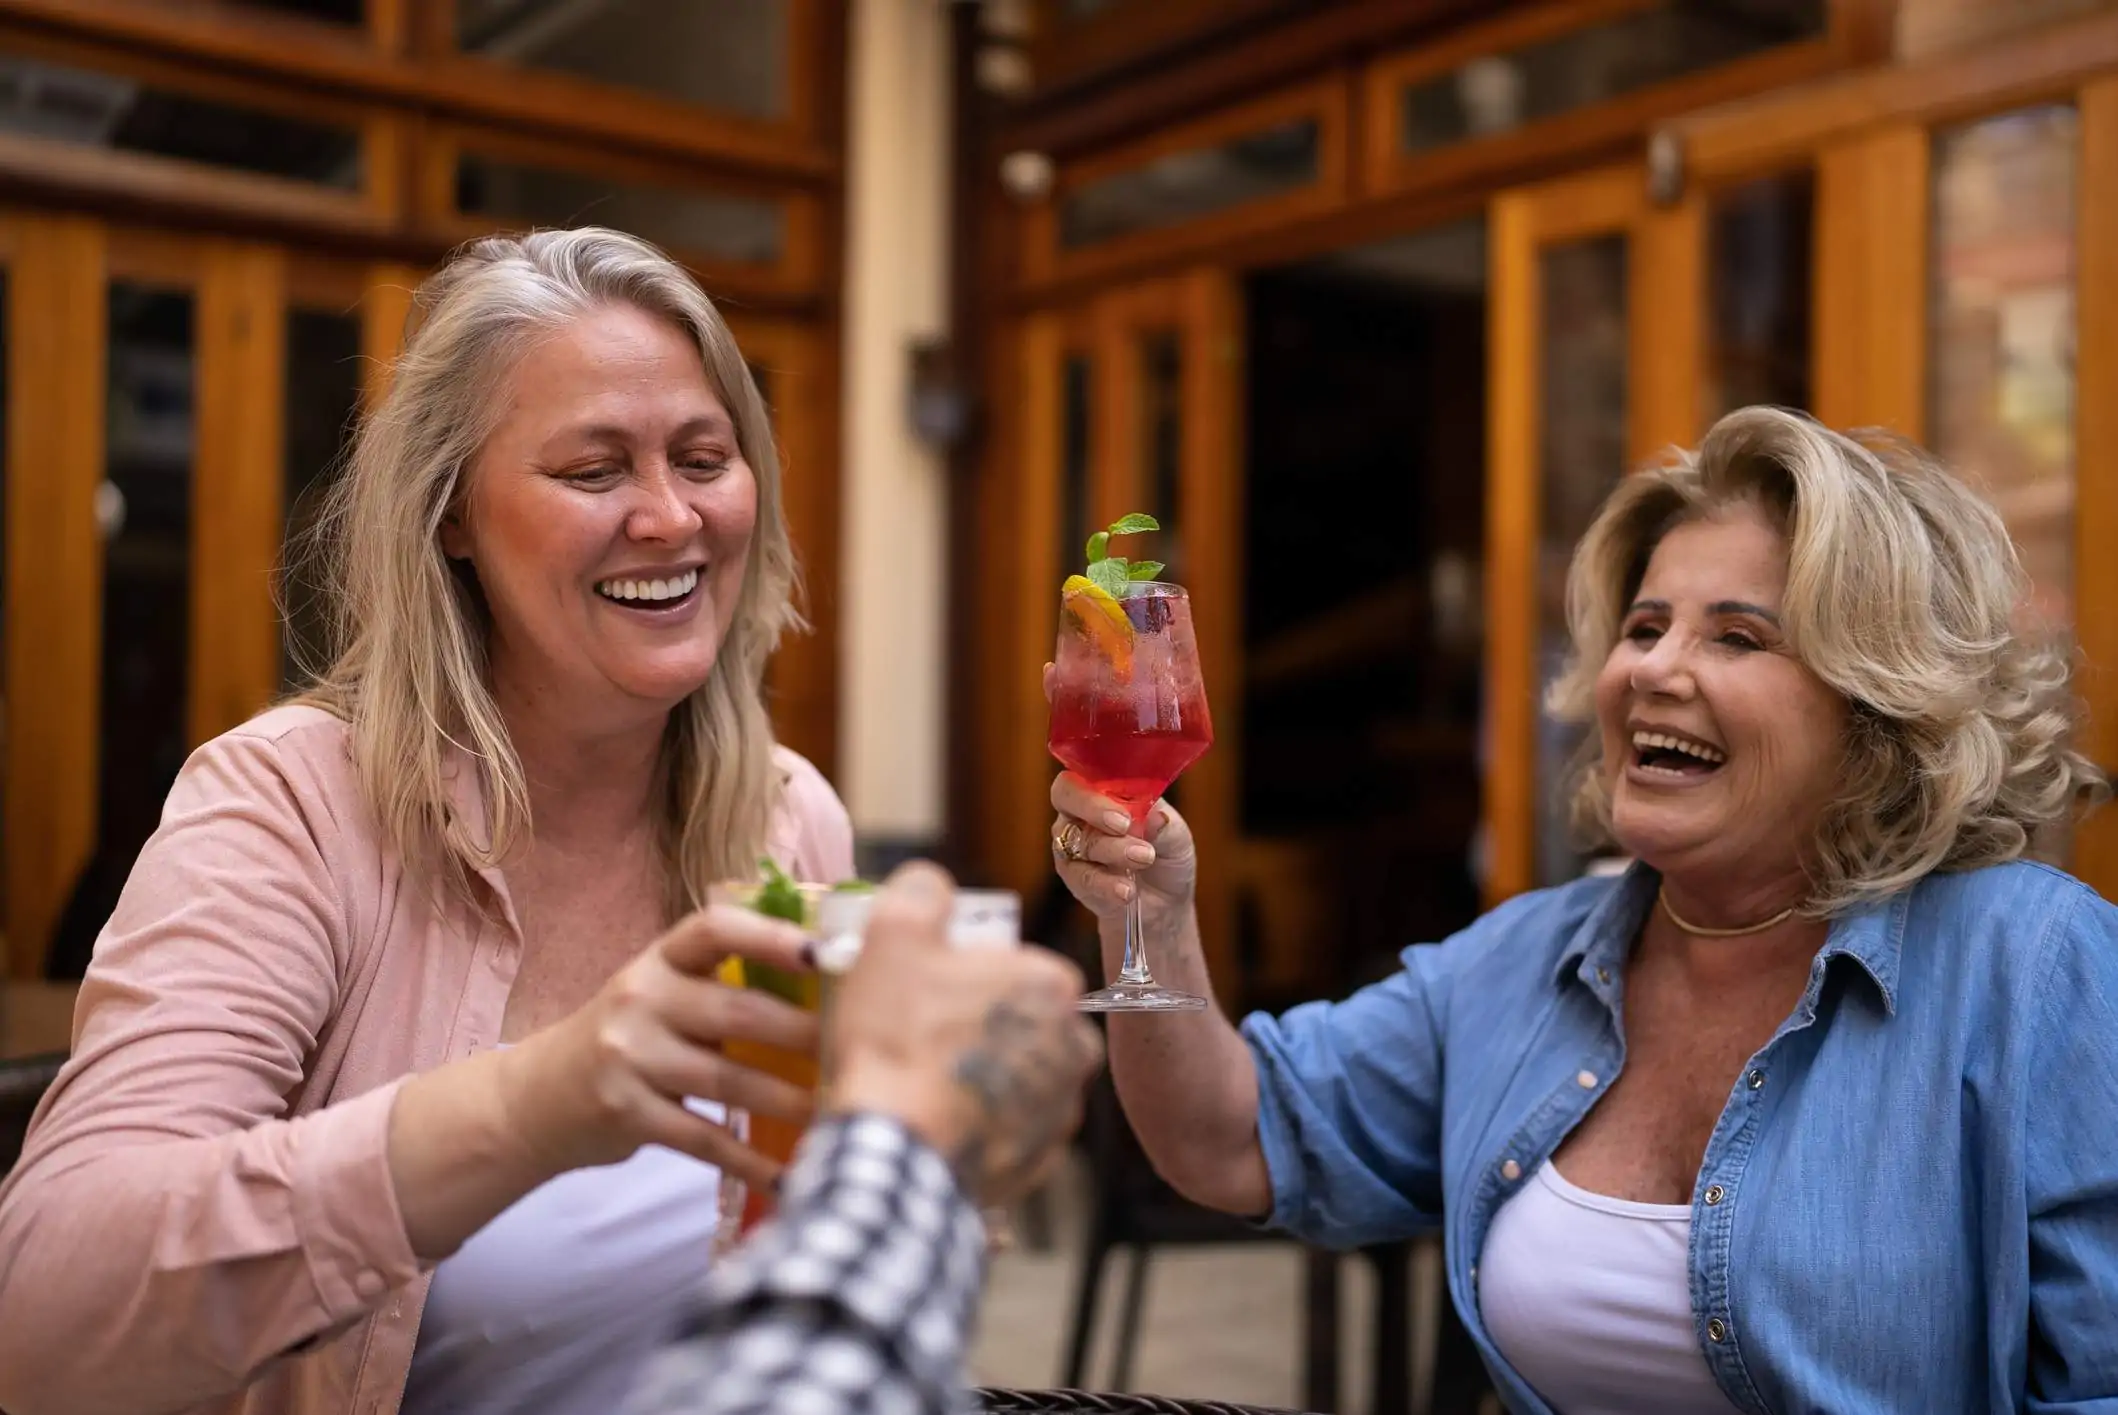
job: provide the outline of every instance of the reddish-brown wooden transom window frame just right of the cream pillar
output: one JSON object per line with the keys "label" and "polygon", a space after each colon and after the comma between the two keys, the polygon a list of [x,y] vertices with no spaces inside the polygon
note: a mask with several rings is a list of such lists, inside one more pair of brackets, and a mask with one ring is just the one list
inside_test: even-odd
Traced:
{"label": "reddish-brown wooden transom window frame just right of the cream pillar", "polygon": [[[1169,227],[1133,231],[1076,250],[1061,248],[1059,208],[1074,191],[1108,176],[1139,169],[1171,153],[1211,148],[1231,138],[1305,119],[1317,125],[1315,182]],[[1190,254],[1203,256],[1224,241],[1341,210],[1351,191],[1349,140],[1351,80],[1330,76],[1171,127],[1142,142],[1065,163],[1053,191],[1025,212],[1023,284],[1038,288],[1099,275],[1116,277],[1133,267],[1180,261]]]}

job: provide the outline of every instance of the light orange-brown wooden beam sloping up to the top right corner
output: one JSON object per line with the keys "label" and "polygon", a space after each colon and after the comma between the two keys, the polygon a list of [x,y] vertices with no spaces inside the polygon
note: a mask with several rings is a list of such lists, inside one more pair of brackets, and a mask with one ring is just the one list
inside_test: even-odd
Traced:
{"label": "light orange-brown wooden beam sloping up to the top right corner", "polygon": [[2118,68],[2118,13],[1944,59],[1722,104],[1673,121],[1669,133],[1690,180],[1741,180],[1809,161],[1819,146],[1866,127],[1934,125],[2063,97],[2084,74],[2107,68]]}

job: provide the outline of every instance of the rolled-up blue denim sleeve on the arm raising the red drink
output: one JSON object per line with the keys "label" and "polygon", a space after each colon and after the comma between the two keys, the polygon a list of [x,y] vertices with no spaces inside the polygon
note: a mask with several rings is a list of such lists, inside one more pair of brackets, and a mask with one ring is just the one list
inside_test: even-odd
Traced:
{"label": "rolled-up blue denim sleeve on the arm raising the red drink", "polygon": [[1455,972],[1508,909],[1345,1002],[1243,1021],[1258,1068],[1258,1142],[1273,1229],[1330,1248],[1383,1243],[1442,1220],[1442,1040]]}

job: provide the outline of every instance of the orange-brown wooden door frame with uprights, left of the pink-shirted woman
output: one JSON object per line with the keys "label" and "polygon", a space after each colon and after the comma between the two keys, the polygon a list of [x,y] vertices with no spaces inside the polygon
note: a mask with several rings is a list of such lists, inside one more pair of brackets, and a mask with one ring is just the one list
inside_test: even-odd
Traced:
{"label": "orange-brown wooden door frame with uprights, left of the pink-shirted woman", "polygon": [[[0,214],[6,309],[6,957],[34,979],[100,830],[108,292],[112,280],[195,301],[186,737],[214,737],[280,693],[269,593],[284,530],[286,316],[333,267],[358,290],[366,394],[396,356],[417,271],[284,246]],[[311,301],[313,303],[313,301]],[[347,311],[352,314],[352,311]],[[25,474],[23,468],[36,468]]]}

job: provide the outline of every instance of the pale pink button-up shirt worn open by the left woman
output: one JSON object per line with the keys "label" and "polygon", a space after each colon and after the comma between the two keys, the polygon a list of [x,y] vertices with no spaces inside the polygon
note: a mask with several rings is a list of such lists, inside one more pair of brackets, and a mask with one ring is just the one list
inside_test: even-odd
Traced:
{"label": "pale pink button-up shirt worn open by the left woman", "polygon": [[[779,767],[767,847],[851,875],[839,796]],[[428,1269],[390,1104],[500,1038],[521,934],[483,877],[496,917],[407,879],[330,714],[277,708],[193,754],[0,1188],[0,1409],[398,1409]]]}

